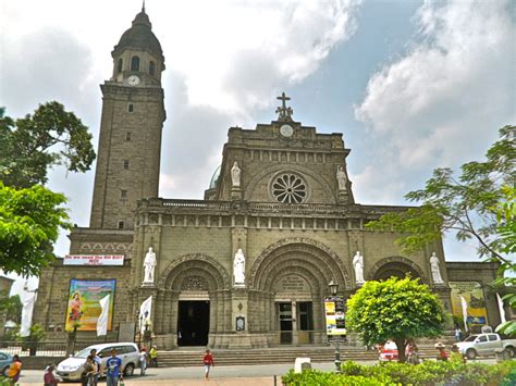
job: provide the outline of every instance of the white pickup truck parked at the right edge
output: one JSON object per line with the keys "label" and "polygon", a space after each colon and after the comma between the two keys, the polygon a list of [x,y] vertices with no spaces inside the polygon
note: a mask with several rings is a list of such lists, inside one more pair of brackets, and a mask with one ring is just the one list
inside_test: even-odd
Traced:
{"label": "white pickup truck parked at the right edge", "polygon": [[457,344],[458,351],[468,359],[477,356],[493,356],[494,350],[504,349],[511,358],[516,357],[516,339],[502,339],[499,334],[470,335]]}

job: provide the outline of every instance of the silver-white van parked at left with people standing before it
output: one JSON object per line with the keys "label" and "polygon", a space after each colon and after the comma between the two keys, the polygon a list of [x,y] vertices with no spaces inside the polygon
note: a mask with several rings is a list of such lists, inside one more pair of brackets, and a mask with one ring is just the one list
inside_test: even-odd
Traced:
{"label": "silver-white van parked at left with people standing before it", "polygon": [[116,356],[122,359],[122,372],[124,376],[131,376],[134,373],[134,369],[139,365],[139,351],[138,346],[133,343],[116,343],[116,344],[102,344],[93,345],[81,350],[75,356],[66,358],[64,361],[58,364],[58,375],[63,381],[77,381],[81,379],[81,374],[84,371],[84,363],[88,358],[89,352],[93,349],[97,350],[97,354],[101,358],[100,376],[106,375],[106,362],[111,357],[111,350],[116,350]]}

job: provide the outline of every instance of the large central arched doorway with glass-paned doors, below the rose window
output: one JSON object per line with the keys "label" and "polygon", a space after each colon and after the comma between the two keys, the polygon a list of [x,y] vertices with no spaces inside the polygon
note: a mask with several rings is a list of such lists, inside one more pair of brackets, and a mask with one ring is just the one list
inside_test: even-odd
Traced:
{"label": "large central arched doorway with glass-paned doors, below the rose window", "polygon": [[346,269],[325,246],[309,239],[270,246],[249,275],[249,300],[257,304],[250,332],[265,332],[269,346],[325,343],[323,298],[332,279],[349,289]]}

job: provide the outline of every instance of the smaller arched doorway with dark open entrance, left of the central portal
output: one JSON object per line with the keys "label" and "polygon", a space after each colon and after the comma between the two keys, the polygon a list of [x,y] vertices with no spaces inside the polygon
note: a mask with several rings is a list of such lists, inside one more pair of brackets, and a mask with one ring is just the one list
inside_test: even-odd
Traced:
{"label": "smaller arched doorway with dark open entrance, left of the central portal", "polygon": [[214,346],[223,331],[230,276],[214,259],[188,254],[174,260],[163,272],[157,310],[162,312],[161,333],[176,346]]}

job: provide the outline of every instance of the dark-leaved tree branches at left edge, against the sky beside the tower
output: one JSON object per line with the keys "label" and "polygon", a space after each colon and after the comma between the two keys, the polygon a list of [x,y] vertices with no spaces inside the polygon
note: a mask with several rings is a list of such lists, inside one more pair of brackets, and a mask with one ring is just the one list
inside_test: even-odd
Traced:
{"label": "dark-leaved tree branches at left edge, against the sky beside the tower", "polygon": [[53,165],[85,172],[95,160],[88,128],[56,101],[15,121],[0,109],[0,180],[17,188],[45,184]]}

